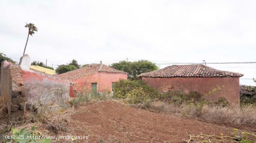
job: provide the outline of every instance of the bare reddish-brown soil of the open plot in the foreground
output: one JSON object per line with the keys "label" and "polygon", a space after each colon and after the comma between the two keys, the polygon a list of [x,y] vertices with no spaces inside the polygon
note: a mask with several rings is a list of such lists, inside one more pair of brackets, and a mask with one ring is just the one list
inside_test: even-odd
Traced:
{"label": "bare reddish-brown soil of the open plot in the foreground", "polygon": [[[149,112],[115,101],[87,103],[72,120],[87,142],[181,143],[200,133],[231,135],[232,128],[170,114]],[[81,141],[80,141],[81,142]],[[86,142],[86,141],[82,141]]]}

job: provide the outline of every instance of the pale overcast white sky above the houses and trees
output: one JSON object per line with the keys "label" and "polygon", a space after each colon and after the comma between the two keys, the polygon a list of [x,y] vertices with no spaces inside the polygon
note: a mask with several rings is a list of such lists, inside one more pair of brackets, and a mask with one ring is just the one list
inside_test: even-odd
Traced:
{"label": "pale overcast white sky above the houses and trees", "polygon": [[[26,54],[54,68],[72,59],[256,62],[256,0],[0,0],[0,52],[16,61],[26,23],[38,27]],[[256,63],[207,65],[256,85]]]}

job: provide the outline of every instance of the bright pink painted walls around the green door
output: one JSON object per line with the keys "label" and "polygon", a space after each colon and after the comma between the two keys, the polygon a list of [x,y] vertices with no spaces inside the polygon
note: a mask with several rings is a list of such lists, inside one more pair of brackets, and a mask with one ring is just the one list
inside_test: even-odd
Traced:
{"label": "bright pink painted walls around the green door", "polygon": [[120,79],[127,79],[127,74],[115,73],[96,73],[94,75],[84,76],[75,79],[72,82],[78,92],[91,91],[92,83],[97,83],[97,92],[109,92],[112,90],[112,82],[119,81]]}

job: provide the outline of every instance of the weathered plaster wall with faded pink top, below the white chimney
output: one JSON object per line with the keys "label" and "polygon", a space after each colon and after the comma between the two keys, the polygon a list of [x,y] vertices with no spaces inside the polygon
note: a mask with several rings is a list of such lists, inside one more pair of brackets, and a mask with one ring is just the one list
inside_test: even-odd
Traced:
{"label": "weathered plaster wall with faded pink top, below the white chimney", "polygon": [[70,83],[55,76],[22,70],[27,107],[68,106]]}

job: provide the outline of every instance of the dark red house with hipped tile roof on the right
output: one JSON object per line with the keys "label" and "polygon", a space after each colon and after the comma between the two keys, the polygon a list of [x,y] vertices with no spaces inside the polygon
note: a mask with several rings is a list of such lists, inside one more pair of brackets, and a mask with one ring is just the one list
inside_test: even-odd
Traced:
{"label": "dark red house with hipped tile roof on the right", "polygon": [[239,105],[239,77],[243,74],[222,71],[202,64],[173,65],[166,68],[138,75],[142,81],[161,92],[183,91],[185,93],[197,91],[207,95],[209,91],[220,87],[214,97],[206,99],[226,98],[229,103]]}

